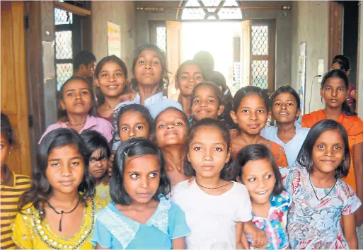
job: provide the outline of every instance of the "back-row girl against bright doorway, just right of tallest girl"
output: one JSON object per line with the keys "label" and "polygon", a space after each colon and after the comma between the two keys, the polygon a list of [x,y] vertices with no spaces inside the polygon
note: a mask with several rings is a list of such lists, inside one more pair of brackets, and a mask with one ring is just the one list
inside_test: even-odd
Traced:
{"label": "back-row girl against bright doorway, just right of tallest girl", "polygon": [[180,65],[175,73],[175,88],[180,90],[178,102],[183,108],[185,115],[189,118],[192,115],[191,96],[194,87],[204,81],[200,63],[195,60],[188,60]]}

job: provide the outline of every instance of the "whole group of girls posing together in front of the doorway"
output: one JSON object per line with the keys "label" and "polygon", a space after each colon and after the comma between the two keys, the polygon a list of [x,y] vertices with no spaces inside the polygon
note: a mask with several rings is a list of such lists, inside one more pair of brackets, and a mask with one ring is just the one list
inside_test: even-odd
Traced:
{"label": "whole group of girls posing together in front of the doorway", "polygon": [[[131,84],[120,59],[100,60],[98,117],[93,86],[66,81],[59,122],[40,140],[31,187],[11,215],[11,247],[358,248],[363,122],[345,106],[345,72],[325,74],[325,116],[303,115],[310,130],[296,123],[300,100],[289,86],[270,98],[246,86],[229,99],[190,60],[176,73],[175,102],[163,98],[167,72],[154,45],[135,52]],[[265,126],[270,115],[277,127]],[[17,180],[3,159],[9,127],[1,115],[1,176]]]}

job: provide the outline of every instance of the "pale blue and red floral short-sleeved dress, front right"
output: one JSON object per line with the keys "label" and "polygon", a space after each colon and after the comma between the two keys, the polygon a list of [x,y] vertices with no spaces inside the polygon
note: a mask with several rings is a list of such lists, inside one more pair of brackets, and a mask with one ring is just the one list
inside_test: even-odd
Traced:
{"label": "pale blue and red floral short-sleeved dress, front right", "polygon": [[[352,188],[338,178],[332,188],[312,187],[304,168],[280,168],[286,190],[292,195],[287,233],[292,249],[349,249],[340,218],[351,215],[361,201]],[[331,192],[323,198],[328,192]]]}

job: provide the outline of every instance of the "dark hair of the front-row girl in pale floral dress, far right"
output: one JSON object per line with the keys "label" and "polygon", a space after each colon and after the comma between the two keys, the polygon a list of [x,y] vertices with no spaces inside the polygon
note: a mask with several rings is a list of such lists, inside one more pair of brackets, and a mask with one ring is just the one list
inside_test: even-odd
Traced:
{"label": "dark hair of the front-row girl in pale floral dress, far right", "polygon": [[347,176],[350,168],[350,150],[348,135],[345,128],[335,120],[321,120],[311,127],[304,144],[302,144],[299,155],[297,156],[297,163],[300,166],[304,166],[309,173],[313,171],[313,147],[318,140],[318,137],[323,134],[323,132],[328,130],[338,130],[340,135],[342,135],[342,140],[344,142],[344,157],[342,162],[340,162],[337,169],[335,169],[335,178],[343,178]]}

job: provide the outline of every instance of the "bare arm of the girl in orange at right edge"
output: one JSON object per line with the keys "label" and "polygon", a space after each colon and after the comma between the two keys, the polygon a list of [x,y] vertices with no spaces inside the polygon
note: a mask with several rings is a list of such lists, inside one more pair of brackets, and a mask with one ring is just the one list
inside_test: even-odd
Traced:
{"label": "bare arm of the girl in orange at right edge", "polygon": [[[363,142],[353,146],[353,166],[355,171],[355,186],[359,200],[363,202]],[[363,206],[355,212],[357,227],[363,222]]]}

